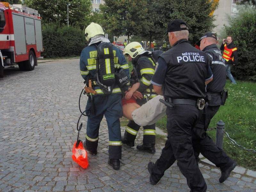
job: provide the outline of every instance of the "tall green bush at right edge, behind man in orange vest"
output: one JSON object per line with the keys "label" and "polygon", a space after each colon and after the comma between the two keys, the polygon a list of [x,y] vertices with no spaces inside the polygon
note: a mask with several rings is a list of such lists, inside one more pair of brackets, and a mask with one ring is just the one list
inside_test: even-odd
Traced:
{"label": "tall green bush at right edge, behind man in orange vest", "polygon": [[233,66],[232,74],[241,80],[256,81],[256,9],[252,5],[238,6],[238,13],[231,18],[226,34],[233,37],[238,49],[238,64]]}

